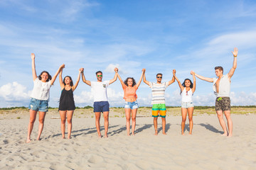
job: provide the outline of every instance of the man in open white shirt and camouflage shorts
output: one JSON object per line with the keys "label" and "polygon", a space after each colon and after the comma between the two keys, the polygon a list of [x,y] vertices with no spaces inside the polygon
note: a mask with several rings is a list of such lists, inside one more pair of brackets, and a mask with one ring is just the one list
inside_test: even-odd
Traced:
{"label": "man in open white shirt and camouflage shorts", "polygon": [[[198,74],[195,74],[199,79],[212,82],[213,83],[213,91],[216,96],[215,100],[215,111],[218,115],[218,120],[220,121],[221,128],[223,128],[223,136],[232,136],[233,131],[233,122],[230,117],[230,79],[233,76],[235,69],[237,67],[237,56],[238,56],[238,48],[234,48],[233,53],[233,67],[230,69],[228,74],[223,75],[223,67],[215,67],[215,74],[218,78],[206,78],[202,77]],[[225,125],[225,121],[223,119],[223,112],[228,121],[228,130]]]}

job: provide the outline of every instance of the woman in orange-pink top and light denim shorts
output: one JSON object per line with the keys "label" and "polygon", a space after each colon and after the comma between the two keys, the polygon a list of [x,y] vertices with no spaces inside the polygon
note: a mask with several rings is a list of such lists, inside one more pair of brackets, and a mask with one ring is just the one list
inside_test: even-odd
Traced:
{"label": "woman in orange-pink top and light denim shorts", "polygon": [[137,109],[139,108],[137,103],[137,94],[136,91],[139,88],[139,84],[142,82],[142,77],[145,72],[145,69],[142,69],[142,76],[139,79],[138,84],[133,77],[128,77],[125,81],[122,81],[121,77],[118,74],[118,69],[115,68],[114,72],[117,73],[117,77],[122,84],[122,88],[124,90],[124,111],[127,119],[127,135],[129,136],[129,129],[130,129],[130,120],[131,120],[131,113],[132,113],[132,135],[134,135],[135,125],[136,125],[136,114]]}

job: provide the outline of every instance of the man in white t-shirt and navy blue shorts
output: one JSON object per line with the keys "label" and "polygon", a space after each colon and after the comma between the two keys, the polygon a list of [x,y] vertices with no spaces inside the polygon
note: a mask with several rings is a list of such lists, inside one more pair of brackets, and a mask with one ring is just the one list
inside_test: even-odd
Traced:
{"label": "man in white t-shirt and navy blue shorts", "polygon": [[100,133],[100,113],[104,116],[104,127],[105,127],[105,137],[107,137],[107,130],[109,126],[109,112],[110,104],[107,98],[107,87],[117,80],[117,74],[114,74],[114,79],[108,81],[102,81],[102,72],[96,72],[97,81],[89,81],[85,79],[85,74],[82,70],[82,81],[85,84],[91,86],[92,94],[94,96],[93,112],[95,113],[95,124],[97,128],[97,133],[99,137],[102,137]]}

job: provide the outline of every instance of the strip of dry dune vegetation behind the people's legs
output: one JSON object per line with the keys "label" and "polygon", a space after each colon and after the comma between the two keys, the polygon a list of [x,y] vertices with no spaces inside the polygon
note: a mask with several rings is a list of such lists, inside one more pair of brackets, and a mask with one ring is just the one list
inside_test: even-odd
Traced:
{"label": "strip of dry dune vegetation behind the people's legs", "polygon": [[[233,106],[232,114],[255,114],[256,106]],[[193,115],[215,115],[214,106],[195,106]],[[180,107],[167,107],[168,115],[181,115]],[[46,118],[58,118],[58,108],[49,108]],[[110,108],[110,118],[124,118],[124,108]],[[140,107],[137,117],[151,117],[151,107]],[[28,108],[0,108],[0,119],[24,119],[29,118]],[[76,108],[73,118],[94,118],[93,108],[86,106],[84,108]]]}

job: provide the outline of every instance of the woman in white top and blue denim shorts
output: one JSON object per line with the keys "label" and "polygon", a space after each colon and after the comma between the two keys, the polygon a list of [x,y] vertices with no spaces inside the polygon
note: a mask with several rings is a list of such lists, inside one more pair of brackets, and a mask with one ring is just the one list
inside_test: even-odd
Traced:
{"label": "woman in white top and blue denim shorts", "polygon": [[33,130],[33,124],[36,120],[36,114],[39,113],[39,128],[38,128],[38,137],[36,140],[40,140],[41,133],[43,131],[43,123],[44,118],[46,116],[46,112],[48,111],[48,101],[49,101],[49,92],[50,86],[53,85],[56,77],[58,76],[60,69],[65,67],[62,64],[58,71],[55,73],[53,78],[46,71],[41,72],[39,76],[36,75],[36,64],[35,64],[35,54],[31,53],[32,60],[32,75],[33,75],[33,91],[31,94],[31,101],[29,103],[28,109],[30,114],[30,120],[28,123],[28,137],[26,142],[31,142],[31,132]]}

